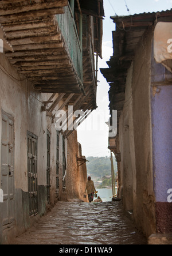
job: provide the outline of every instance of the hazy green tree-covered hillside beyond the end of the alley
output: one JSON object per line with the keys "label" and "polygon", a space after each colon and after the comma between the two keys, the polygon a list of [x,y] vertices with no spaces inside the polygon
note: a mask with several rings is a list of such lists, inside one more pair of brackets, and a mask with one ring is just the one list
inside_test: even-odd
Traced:
{"label": "hazy green tree-covered hillside beyond the end of the alley", "polygon": [[[111,175],[111,159],[110,157],[87,157],[87,173],[96,177]],[[114,169],[117,170],[115,157]]]}

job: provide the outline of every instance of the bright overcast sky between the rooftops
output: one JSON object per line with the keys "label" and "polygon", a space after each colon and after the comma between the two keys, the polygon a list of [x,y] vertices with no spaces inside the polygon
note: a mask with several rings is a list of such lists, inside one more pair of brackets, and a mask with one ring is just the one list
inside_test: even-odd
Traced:
{"label": "bright overcast sky between the rooftops", "polygon": [[[127,10],[127,7],[129,11]],[[172,0],[104,0],[105,18],[103,23],[103,59],[99,59],[99,69],[108,67],[107,61],[113,54],[112,31],[115,24],[110,16],[126,16],[131,13],[161,12],[170,10]],[[97,110],[77,128],[78,141],[82,145],[83,155],[88,156],[110,156],[108,150],[108,126],[105,122],[109,117],[108,91],[110,86],[99,71],[97,87]]]}

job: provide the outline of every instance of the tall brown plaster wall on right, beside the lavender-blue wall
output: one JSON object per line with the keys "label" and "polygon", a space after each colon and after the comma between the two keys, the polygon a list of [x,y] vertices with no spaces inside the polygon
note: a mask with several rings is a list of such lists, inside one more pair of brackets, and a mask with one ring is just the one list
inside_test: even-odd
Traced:
{"label": "tall brown plaster wall on right, beside the lavender-blue wall", "polygon": [[146,235],[155,232],[153,148],[151,129],[151,46],[153,29],[143,35],[134,60],[132,78],[133,124],[136,165],[135,220]]}

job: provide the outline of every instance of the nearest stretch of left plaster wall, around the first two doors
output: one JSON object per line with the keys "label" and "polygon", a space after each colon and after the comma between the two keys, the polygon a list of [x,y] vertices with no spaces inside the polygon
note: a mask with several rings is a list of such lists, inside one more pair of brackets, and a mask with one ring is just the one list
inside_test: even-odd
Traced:
{"label": "nearest stretch of left plaster wall, around the first two doors", "polygon": [[[46,201],[46,114],[41,113],[42,96],[33,91],[32,85],[0,54],[0,140],[2,134],[2,110],[14,118],[14,196],[15,223],[12,230],[4,232],[3,239],[10,239],[31,224],[28,196],[27,131],[38,137],[38,211],[45,213]],[[0,149],[1,151],[1,149]],[[1,157],[1,153],[0,153]],[[1,159],[0,159],[1,161]],[[0,170],[1,174],[1,170]],[[2,209],[2,208],[1,208]],[[0,209],[0,212],[1,212]],[[1,215],[1,214],[0,214]],[[2,234],[2,232],[1,232]]]}

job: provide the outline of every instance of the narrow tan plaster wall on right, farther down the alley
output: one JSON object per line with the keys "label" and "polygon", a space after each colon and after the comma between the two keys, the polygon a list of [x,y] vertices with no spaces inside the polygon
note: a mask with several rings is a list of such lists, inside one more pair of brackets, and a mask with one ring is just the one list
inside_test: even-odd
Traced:
{"label": "narrow tan plaster wall on right, farther down the alley", "polygon": [[135,150],[132,120],[132,72],[133,65],[131,65],[127,74],[126,103],[124,104],[119,122],[119,145],[122,159],[120,164],[120,176],[122,177],[123,204],[126,211],[133,209],[133,197],[136,191],[136,182],[133,178],[135,176]]}

